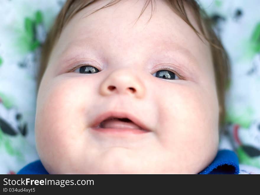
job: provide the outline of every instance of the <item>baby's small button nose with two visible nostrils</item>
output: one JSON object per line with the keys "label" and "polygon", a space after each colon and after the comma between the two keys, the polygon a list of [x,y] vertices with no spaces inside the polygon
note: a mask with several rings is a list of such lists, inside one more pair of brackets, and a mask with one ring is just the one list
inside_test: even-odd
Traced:
{"label": "baby's small button nose with two visible nostrils", "polygon": [[136,98],[145,96],[144,83],[129,69],[113,71],[100,86],[103,96],[112,94],[129,94]]}

